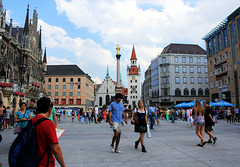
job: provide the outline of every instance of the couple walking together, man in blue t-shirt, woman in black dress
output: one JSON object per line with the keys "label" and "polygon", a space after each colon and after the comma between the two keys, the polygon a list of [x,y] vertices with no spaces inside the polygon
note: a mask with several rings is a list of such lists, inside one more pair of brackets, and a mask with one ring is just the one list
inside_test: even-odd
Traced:
{"label": "couple walking together, man in blue t-shirt, woman in black dress", "polygon": [[[118,145],[120,142],[121,132],[123,130],[123,120],[122,116],[125,118],[126,124],[128,123],[126,114],[124,112],[125,108],[123,106],[123,103],[121,102],[121,99],[123,99],[123,96],[121,93],[117,93],[115,95],[115,101],[110,104],[109,107],[109,123],[113,127],[114,136],[112,138],[111,143],[111,151],[114,153],[122,153],[118,149]],[[133,118],[131,122],[135,124],[135,132],[139,132],[140,137],[135,142],[135,148],[138,148],[138,144],[141,142],[142,144],[142,152],[146,152],[145,146],[144,146],[144,134],[147,132],[147,113],[143,107],[143,101],[140,100],[138,102],[138,109],[134,111],[134,114],[137,116],[137,122],[134,122]],[[116,142],[116,143],[115,143]],[[114,147],[115,143],[115,147]]]}

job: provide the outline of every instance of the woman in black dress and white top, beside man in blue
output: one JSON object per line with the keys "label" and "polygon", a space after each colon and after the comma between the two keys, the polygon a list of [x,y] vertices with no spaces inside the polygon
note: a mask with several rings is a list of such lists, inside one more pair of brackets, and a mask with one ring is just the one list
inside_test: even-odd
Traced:
{"label": "woman in black dress and white top, beside man in blue", "polygon": [[[134,121],[134,117],[137,116],[137,122]],[[131,122],[135,124],[135,132],[139,133],[140,137],[135,141],[135,149],[138,148],[138,144],[141,142],[142,152],[147,152],[144,144],[144,136],[147,132],[147,110],[144,108],[143,101],[138,101],[138,108],[134,110],[134,116]]]}

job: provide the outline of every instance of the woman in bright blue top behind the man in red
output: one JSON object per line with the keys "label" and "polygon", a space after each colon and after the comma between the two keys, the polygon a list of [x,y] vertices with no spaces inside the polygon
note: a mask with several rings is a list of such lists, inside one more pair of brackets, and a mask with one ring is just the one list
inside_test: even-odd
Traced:
{"label": "woman in bright blue top behind the man in red", "polygon": [[28,124],[28,121],[31,119],[31,114],[28,110],[26,110],[26,103],[20,102],[20,110],[16,113],[15,122],[17,123],[17,133],[22,131]]}

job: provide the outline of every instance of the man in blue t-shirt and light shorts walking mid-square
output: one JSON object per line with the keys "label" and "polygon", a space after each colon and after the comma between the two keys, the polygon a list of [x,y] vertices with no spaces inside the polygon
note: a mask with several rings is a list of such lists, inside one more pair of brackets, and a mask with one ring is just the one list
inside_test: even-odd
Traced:
{"label": "man in blue t-shirt and light shorts walking mid-square", "polygon": [[[121,100],[123,99],[123,95],[121,93],[117,93],[115,95],[115,101],[112,102],[109,106],[109,123],[113,127],[114,136],[112,138],[111,151],[114,153],[122,153],[118,149],[118,145],[120,142],[121,132],[123,130],[123,119],[125,118],[126,124],[128,123],[127,117],[125,114],[125,108]],[[116,141],[116,145],[114,148],[114,143]]]}

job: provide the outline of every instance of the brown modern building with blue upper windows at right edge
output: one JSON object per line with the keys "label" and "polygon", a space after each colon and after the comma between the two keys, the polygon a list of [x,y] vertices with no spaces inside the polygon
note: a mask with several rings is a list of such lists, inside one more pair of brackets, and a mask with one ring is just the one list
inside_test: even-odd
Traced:
{"label": "brown modern building with blue upper windows at right edge", "polygon": [[210,98],[240,105],[240,7],[203,38],[208,56]]}

